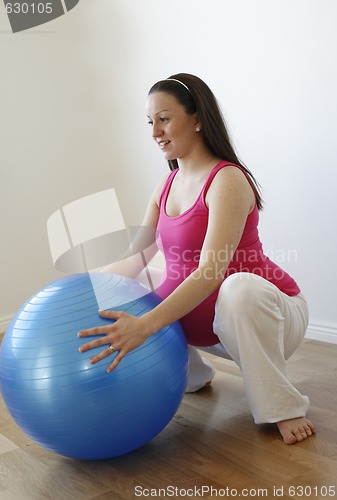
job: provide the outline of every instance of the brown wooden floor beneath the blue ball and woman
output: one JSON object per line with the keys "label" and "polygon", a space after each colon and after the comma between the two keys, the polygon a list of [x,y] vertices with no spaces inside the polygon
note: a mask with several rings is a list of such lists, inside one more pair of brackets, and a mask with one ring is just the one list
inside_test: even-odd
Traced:
{"label": "brown wooden floor beneath the blue ball and woman", "polygon": [[273,425],[252,422],[234,363],[208,357],[218,369],[212,386],[186,395],[157,438],[120,458],[85,462],[47,451],[1,402],[0,500],[337,498],[337,345],[306,340],[289,361],[318,431],[293,446]]}

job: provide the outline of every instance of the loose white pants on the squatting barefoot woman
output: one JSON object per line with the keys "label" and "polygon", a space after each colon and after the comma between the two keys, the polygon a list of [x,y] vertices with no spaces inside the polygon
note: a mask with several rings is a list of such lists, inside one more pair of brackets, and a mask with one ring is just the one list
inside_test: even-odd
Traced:
{"label": "loose white pants on the squatting barefoot woman", "polygon": [[[288,380],[286,360],[302,341],[307,325],[308,310],[302,294],[289,297],[250,273],[233,274],[221,285],[213,328],[224,349],[221,345],[215,349],[241,368],[257,424],[306,414],[309,399]],[[193,392],[211,380],[215,370],[196,348],[189,349],[187,391]]]}

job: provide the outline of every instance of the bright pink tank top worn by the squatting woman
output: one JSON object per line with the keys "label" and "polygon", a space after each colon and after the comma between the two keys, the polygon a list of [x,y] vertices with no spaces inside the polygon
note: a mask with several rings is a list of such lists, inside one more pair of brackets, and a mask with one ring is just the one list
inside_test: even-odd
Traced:
{"label": "bright pink tank top worn by the squatting woman", "polygon": [[[194,204],[182,214],[170,217],[166,213],[166,200],[175,175],[168,177],[160,197],[158,245],[165,257],[166,273],[157,293],[165,299],[197,267],[208,225],[206,193],[217,172],[228,166],[221,161],[210,172]],[[240,168],[240,167],[238,167]],[[245,173],[245,172],[244,172]],[[248,178],[248,176],[246,176]],[[248,178],[249,180],[249,178]],[[282,292],[293,296],[300,292],[295,281],[263,253],[258,234],[257,206],[248,215],[239,245],[228,266],[226,277],[237,272],[255,273],[274,283]],[[220,256],[221,258],[221,256]],[[210,346],[219,342],[213,332],[215,302],[218,290],[209,295],[193,311],[180,319],[186,340],[195,346]]]}

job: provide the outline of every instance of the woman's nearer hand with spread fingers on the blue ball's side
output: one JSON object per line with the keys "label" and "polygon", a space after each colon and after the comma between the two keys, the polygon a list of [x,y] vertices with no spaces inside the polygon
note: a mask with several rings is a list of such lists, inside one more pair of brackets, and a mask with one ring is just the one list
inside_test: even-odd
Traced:
{"label": "woman's nearer hand with spread fingers on the blue ball's side", "polygon": [[90,363],[95,364],[107,358],[112,352],[118,351],[117,356],[107,368],[107,372],[110,373],[119,365],[128,352],[142,345],[152,332],[146,331],[146,325],[142,317],[132,316],[122,311],[99,311],[99,314],[102,318],[114,319],[116,321],[105,326],[89,328],[88,330],[78,332],[77,335],[81,338],[105,334],[104,337],[99,337],[87,344],[83,344],[80,347],[80,352],[86,352],[94,347],[109,344],[102,352],[93,356],[90,359]]}

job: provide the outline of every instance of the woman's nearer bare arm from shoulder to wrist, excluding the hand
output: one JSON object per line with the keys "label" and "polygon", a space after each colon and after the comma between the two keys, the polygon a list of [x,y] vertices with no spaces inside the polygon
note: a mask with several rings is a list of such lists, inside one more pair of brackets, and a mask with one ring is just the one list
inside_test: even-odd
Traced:
{"label": "woman's nearer bare arm from shoulder to wrist, excluding the hand", "polygon": [[199,266],[161,304],[142,316],[149,334],[185,316],[219,288],[255,197],[245,175],[236,167],[226,167],[215,176],[206,202],[209,220]]}

